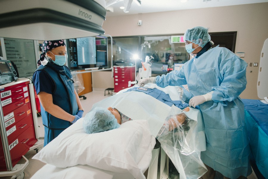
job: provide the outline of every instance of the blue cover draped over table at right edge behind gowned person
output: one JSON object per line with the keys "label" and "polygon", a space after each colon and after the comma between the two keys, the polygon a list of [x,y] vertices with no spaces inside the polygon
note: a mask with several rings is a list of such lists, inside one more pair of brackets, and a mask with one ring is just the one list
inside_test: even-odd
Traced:
{"label": "blue cover draped over table at right edge behind gowned person", "polygon": [[242,99],[250,149],[261,174],[268,178],[268,104]]}

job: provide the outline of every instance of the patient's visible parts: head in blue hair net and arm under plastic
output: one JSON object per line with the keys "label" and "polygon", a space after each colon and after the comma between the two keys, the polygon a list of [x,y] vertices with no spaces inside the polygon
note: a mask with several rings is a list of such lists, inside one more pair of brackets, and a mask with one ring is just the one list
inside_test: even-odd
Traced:
{"label": "patient's visible parts: head in blue hair net and arm under plastic", "polygon": [[[189,107],[185,108],[188,111]],[[187,120],[186,120],[187,119]],[[162,128],[160,129],[157,137],[161,134],[166,134],[180,125],[184,130],[187,131],[189,118],[185,113],[180,113],[175,116],[169,116]],[[96,132],[104,132],[111,129],[116,129],[124,122],[132,121],[131,118],[127,117],[116,108],[108,107],[107,109],[103,107],[96,107],[90,112],[88,112],[83,121],[83,128],[88,134],[93,134]]]}

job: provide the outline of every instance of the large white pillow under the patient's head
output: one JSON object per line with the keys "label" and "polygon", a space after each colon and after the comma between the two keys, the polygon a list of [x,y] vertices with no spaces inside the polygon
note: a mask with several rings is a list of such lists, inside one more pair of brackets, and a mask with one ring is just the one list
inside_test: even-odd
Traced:
{"label": "large white pillow under the patient's head", "polygon": [[33,159],[61,168],[81,164],[111,172],[130,172],[136,179],[145,179],[143,173],[155,146],[146,120],[128,121],[118,129],[95,134],[85,133],[82,124],[83,118],[48,143]]}

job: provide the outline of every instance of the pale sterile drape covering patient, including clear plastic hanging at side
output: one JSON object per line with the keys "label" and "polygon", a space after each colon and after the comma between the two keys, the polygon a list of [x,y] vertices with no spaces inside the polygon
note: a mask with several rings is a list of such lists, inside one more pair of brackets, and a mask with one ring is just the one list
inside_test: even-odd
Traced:
{"label": "pale sterile drape covering patient, including clear plastic hanging at side", "polygon": [[200,178],[207,171],[200,159],[201,145],[199,143],[205,143],[205,138],[198,138],[195,111],[185,112],[188,116],[185,124],[177,124],[177,128],[166,132],[168,130],[165,130],[163,126],[165,120],[176,118],[176,115],[183,112],[180,108],[170,107],[143,92],[131,91],[106,98],[94,104],[92,109],[110,106],[133,120],[146,119],[148,121],[152,135],[158,138],[161,147],[180,173],[180,178]]}

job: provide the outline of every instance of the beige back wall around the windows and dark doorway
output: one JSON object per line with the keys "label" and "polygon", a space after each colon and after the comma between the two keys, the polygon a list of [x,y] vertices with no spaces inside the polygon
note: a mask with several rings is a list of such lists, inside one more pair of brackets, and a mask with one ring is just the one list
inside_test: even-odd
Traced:
{"label": "beige back wall around the windows and dark doorway", "polygon": [[[268,38],[268,3],[226,7],[145,13],[107,17],[103,23],[105,34],[116,36],[162,35],[184,33],[195,26],[209,28],[209,32],[237,31],[235,52],[244,52],[247,63],[260,62],[261,49]],[[142,26],[138,26],[142,20]],[[213,40],[213,39],[212,39]],[[104,73],[104,72],[98,72]],[[111,78],[92,74],[93,88],[108,88]],[[106,81],[104,86],[99,81]],[[247,87],[241,98],[258,99],[258,67],[247,67]],[[111,81],[112,82],[112,81]],[[100,86],[102,85],[102,86]],[[108,86],[110,85],[110,86]]]}

